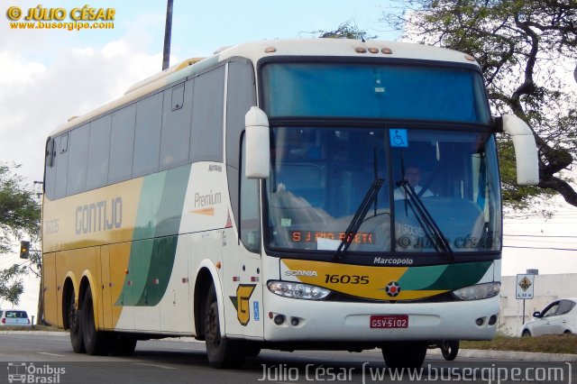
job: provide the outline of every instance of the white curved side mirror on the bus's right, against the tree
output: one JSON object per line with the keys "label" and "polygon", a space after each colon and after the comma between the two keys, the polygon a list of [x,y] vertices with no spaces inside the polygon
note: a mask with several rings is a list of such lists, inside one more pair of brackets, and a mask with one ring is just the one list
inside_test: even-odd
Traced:
{"label": "white curved side mirror on the bus's right, against the tree", "polygon": [[514,114],[503,114],[503,131],[513,139],[517,163],[517,184],[536,186],[539,184],[539,160],[533,131]]}

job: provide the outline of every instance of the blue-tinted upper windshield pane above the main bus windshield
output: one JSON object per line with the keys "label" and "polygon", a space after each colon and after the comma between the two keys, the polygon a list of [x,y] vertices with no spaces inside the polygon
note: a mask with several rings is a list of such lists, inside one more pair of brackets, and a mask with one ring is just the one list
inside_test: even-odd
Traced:
{"label": "blue-tinted upper windshield pane above the main bus windshield", "polygon": [[470,69],[270,63],[261,75],[269,117],[490,123],[481,74]]}

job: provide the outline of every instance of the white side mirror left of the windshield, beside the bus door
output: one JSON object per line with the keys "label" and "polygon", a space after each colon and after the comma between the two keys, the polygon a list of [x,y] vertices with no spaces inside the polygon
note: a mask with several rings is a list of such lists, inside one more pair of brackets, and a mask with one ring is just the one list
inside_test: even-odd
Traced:
{"label": "white side mirror left of the windshield, beside the bus door", "polygon": [[270,174],[269,118],[258,106],[244,116],[247,178],[268,178]]}

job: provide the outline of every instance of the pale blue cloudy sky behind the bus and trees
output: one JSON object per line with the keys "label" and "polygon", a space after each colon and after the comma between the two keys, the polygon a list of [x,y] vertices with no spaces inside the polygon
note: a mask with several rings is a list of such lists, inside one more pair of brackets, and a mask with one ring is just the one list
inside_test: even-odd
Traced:
{"label": "pale blue cloudy sky behind the bus and trees", "polygon": [[[0,161],[21,164],[19,173],[31,184],[42,179],[44,144],[52,130],[160,71],[166,12],[163,0],[100,0],[90,5],[113,8],[114,29],[11,29],[12,7],[22,10],[23,21],[39,4],[69,14],[87,2],[0,0]],[[380,23],[389,12],[398,9],[385,0],[174,0],[170,64],[243,41],[310,38],[347,21],[394,40]],[[559,214],[551,220],[505,217],[504,275],[529,268],[577,273],[577,208],[556,204]],[[18,261],[0,255],[0,268]],[[35,314],[38,281],[29,280],[21,306]]]}

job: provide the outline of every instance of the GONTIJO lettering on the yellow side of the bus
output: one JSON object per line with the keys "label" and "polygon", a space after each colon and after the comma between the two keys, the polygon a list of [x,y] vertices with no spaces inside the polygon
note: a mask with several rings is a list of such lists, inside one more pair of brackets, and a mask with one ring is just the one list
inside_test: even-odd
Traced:
{"label": "GONTIJO lettering on the yellow side of the bus", "polygon": [[76,207],[76,234],[110,231],[122,226],[122,197]]}

